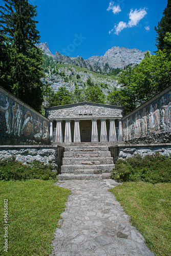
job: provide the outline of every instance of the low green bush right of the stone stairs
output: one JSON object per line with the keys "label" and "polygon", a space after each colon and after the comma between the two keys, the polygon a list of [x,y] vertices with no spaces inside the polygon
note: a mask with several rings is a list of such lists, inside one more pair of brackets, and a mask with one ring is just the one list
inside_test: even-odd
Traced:
{"label": "low green bush right of the stone stairs", "polygon": [[171,182],[171,160],[158,152],[151,156],[141,157],[136,154],[126,160],[119,159],[113,169],[112,178],[119,182]]}

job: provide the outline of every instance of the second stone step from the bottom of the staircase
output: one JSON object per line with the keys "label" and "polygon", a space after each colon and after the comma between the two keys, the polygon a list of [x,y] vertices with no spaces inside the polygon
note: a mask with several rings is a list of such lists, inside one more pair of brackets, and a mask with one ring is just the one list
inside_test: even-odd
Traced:
{"label": "second stone step from the bottom of the staircase", "polygon": [[84,170],[90,170],[90,169],[100,169],[102,170],[102,173],[105,172],[112,172],[112,169],[114,168],[114,164],[97,164],[97,165],[89,165],[89,164],[76,164],[76,165],[61,165],[61,174],[71,174],[74,172],[74,170],[84,169]]}

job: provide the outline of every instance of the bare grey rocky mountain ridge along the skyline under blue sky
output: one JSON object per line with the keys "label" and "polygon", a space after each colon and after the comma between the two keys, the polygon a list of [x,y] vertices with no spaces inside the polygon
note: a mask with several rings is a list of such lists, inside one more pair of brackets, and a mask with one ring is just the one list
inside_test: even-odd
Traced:
{"label": "bare grey rocky mountain ridge along the skyline under blue sky", "polygon": [[[138,49],[127,49],[124,47],[112,47],[104,56],[92,56],[86,60],[82,57],[69,57],[60,54],[56,51],[55,55],[53,55],[48,47],[47,42],[40,43],[37,47],[41,48],[46,54],[51,55],[58,62],[78,65],[82,68],[87,68],[91,71],[95,72],[110,72],[112,69],[120,68],[123,69],[125,66],[129,64],[139,64],[140,61],[144,58],[144,54],[147,51],[140,51]],[[151,54],[151,52],[149,52]]]}

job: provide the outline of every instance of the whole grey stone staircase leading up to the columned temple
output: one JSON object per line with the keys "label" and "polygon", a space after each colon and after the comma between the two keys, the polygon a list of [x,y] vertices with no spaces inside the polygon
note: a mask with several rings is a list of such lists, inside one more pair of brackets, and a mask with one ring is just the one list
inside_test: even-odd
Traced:
{"label": "whole grey stone staircase leading up to the columned temple", "polygon": [[114,167],[108,145],[77,144],[65,146],[58,180],[110,179]]}

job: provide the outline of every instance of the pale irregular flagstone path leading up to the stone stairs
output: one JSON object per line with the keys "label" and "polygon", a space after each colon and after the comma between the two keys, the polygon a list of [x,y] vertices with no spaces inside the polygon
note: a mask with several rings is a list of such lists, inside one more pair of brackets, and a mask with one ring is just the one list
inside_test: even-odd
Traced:
{"label": "pale irregular flagstone path leading up to the stone stairs", "polygon": [[108,189],[114,180],[64,180],[56,185],[71,190],[50,256],[153,256],[143,237],[129,222]]}

